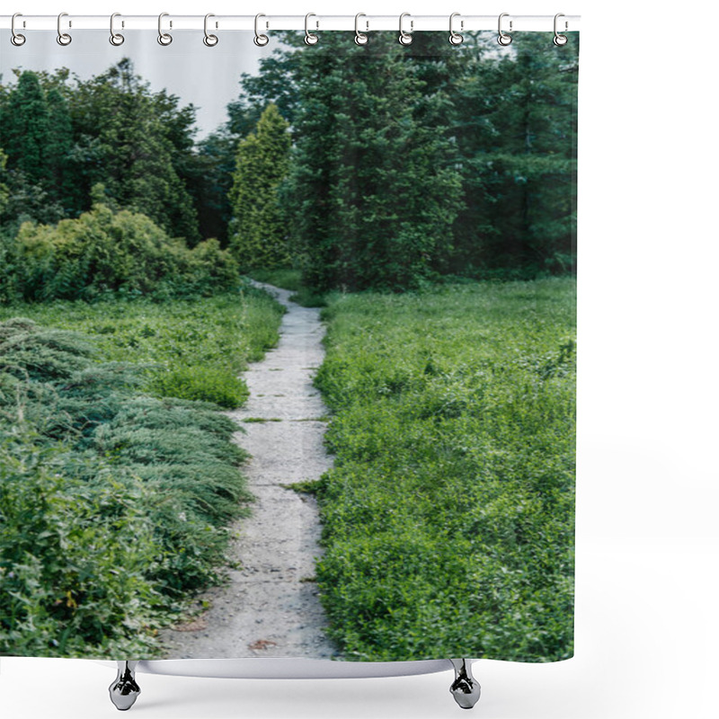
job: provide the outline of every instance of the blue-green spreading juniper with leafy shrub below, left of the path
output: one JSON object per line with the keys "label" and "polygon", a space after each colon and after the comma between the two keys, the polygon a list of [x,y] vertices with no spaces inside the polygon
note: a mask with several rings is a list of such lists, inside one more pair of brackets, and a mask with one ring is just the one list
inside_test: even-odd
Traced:
{"label": "blue-green spreading juniper with leafy shrub below, left of the path", "polygon": [[0,322],[0,654],[153,656],[153,627],[220,579],[247,512],[235,422],[138,395],[144,370],[100,354]]}

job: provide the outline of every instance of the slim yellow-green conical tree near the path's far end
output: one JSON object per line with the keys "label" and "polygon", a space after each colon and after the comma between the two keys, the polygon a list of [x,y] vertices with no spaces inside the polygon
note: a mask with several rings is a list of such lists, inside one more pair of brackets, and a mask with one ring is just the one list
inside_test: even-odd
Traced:
{"label": "slim yellow-green conical tree near the path's far end", "polygon": [[288,172],[288,127],[270,104],[256,131],[237,148],[229,247],[242,267],[280,267],[290,260],[278,203],[278,187]]}

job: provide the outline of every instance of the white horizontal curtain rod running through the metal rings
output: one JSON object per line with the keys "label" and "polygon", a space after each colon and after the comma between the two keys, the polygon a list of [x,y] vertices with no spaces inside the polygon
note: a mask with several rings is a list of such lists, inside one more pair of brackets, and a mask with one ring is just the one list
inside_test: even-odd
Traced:
{"label": "white horizontal curtain rod running through the metal rings", "polygon": [[[560,32],[578,31],[580,15],[562,15],[559,18]],[[456,14],[453,27],[456,31],[497,31],[499,15],[462,15]],[[157,30],[157,15],[122,15],[115,17],[115,31],[121,30]],[[211,15],[209,28],[213,31],[254,31],[255,15]],[[355,30],[354,15],[324,15],[310,13],[309,29],[322,30]],[[512,15],[504,14],[502,27],[513,31],[547,31],[555,29],[554,15]],[[261,15],[262,31],[273,30],[305,30],[305,15]],[[378,30],[399,30],[398,15],[361,14],[359,31],[371,32]],[[10,30],[11,15],[0,15],[0,28]],[[163,17],[164,31],[194,30],[202,31],[205,27],[204,15],[173,15]],[[446,15],[413,15],[404,17],[403,27],[407,31],[449,30],[449,13]],[[110,15],[73,15],[63,14],[62,28],[66,30],[110,30]],[[24,15],[15,19],[16,31],[58,30],[58,15]]]}

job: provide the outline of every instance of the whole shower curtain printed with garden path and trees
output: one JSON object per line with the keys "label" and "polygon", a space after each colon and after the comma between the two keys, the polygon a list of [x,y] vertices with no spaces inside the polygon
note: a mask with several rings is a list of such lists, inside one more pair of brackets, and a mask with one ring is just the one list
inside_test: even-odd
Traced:
{"label": "whole shower curtain printed with garden path and trees", "polygon": [[120,21],[2,41],[0,655],[571,657],[578,34]]}

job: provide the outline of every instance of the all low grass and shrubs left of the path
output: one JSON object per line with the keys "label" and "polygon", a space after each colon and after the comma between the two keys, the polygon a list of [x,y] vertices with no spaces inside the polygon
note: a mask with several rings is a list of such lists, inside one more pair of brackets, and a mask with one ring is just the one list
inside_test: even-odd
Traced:
{"label": "all low grass and shrubs left of the path", "polygon": [[153,656],[156,628],[220,579],[246,455],[168,377],[228,398],[280,316],[253,289],[0,309],[0,654]]}

